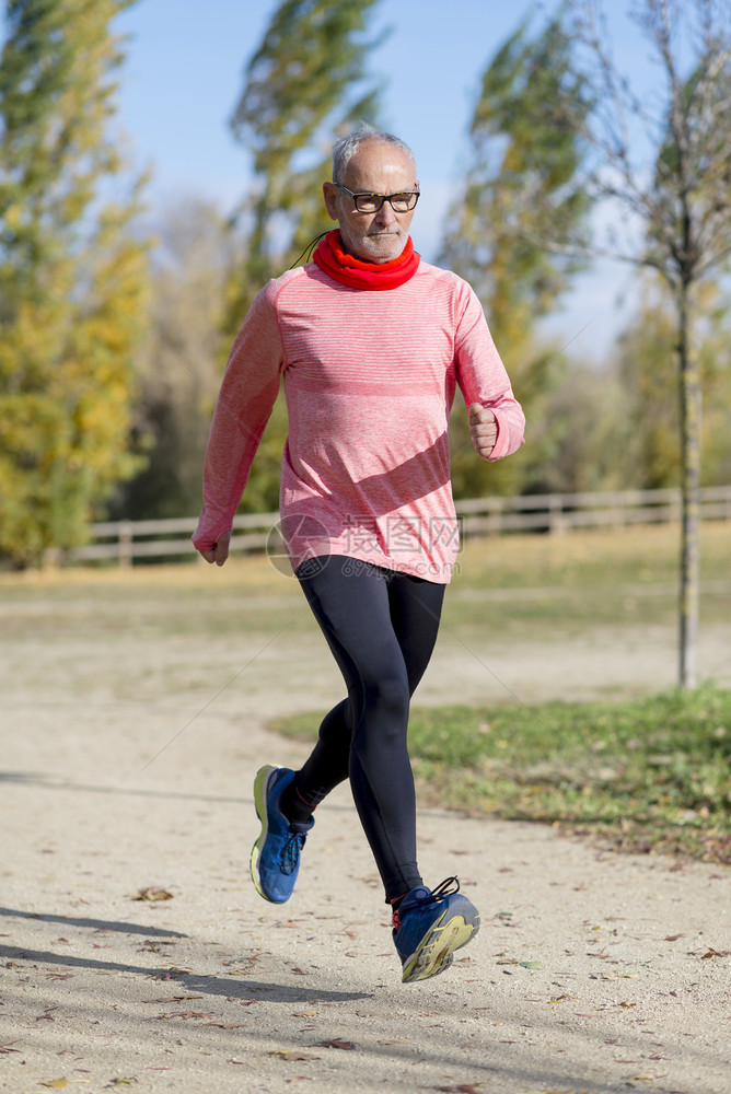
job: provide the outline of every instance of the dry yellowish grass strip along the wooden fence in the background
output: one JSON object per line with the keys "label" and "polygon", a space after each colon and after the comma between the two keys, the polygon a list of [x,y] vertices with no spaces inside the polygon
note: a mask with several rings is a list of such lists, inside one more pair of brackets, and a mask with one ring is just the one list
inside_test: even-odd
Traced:
{"label": "dry yellowish grass strip along the wooden fence in the background", "polygon": [[[542,630],[556,627],[577,633],[602,626],[674,626],[678,544],[674,525],[473,539],[459,556],[444,622],[459,626],[465,640],[486,625],[515,640],[541,639]],[[731,521],[706,523],[701,624],[731,618],[730,557]],[[274,630],[301,603],[297,581],[263,556],[234,557],[222,568],[192,561],[0,573],[3,612],[35,615],[35,624],[67,608],[66,624],[79,630],[104,614],[117,625],[120,607],[161,635]],[[18,617],[14,622],[22,626]]]}

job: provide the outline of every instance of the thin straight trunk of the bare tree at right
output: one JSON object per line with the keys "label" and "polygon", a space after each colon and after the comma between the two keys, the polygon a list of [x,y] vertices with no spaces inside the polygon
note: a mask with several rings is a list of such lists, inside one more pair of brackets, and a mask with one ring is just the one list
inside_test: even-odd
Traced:
{"label": "thin straight trunk of the bare tree at right", "polygon": [[689,286],[678,295],[677,354],[681,385],[682,533],[680,590],[681,688],[697,684],[698,587],[700,579],[700,359],[694,351]]}

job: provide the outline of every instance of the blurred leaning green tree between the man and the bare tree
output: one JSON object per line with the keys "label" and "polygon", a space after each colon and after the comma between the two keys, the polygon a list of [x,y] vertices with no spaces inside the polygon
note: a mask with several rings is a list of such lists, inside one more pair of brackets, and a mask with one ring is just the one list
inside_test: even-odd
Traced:
{"label": "blurred leaning green tree between the man and the bare tree", "polygon": [[[562,366],[553,346],[539,344],[536,323],[555,309],[582,263],[549,254],[548,226],[564,240],[581,231],[589,211],[578,183],[585,148],[561,116],[584,118],[587,83],[572,65],[561,9],[531,35],[525,20],[497,50],[481,80],[469,129],[472,165],[448,221],[440,261],[475,288],[500,352],[510,362],[519,397],[535,406]],[[481,468],[464,464],[469,451],[464,415],[452,422],[457,492],[480,492]],[[536,445],[491,469],[490,488],[517,492],[542,463]]]}

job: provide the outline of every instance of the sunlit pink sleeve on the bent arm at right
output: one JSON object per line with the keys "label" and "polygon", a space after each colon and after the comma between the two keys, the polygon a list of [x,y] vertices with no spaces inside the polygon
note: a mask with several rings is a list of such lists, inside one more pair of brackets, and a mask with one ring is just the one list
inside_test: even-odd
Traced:
{"label": "sunlit pink sleeve on the bent arm at right", "polygon": [[491,410],[498,438],[490,463],[517,452],[524,443],[525,416],[512,393],[476,293],[463,282],[463,300],[455,337],[456,377],[467,406],[479,403]]}

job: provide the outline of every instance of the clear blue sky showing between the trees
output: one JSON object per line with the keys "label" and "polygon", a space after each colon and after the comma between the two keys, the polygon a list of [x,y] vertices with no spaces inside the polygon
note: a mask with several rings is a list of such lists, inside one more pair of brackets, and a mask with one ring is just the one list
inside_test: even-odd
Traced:
{"label": "clear blue sky showing between the trees", "polygon": [[[121,72],[119,117],[138,164],[153,167],[150,195],[216,199],[227,211],[246,191],[250,163],[228,119],[243,89],[245,65],[258,47],[278,0],[139,0],[117,19],[130,36]],[[383,120],[414,148],[422,198],[413,234],[433,260],[441,221],[468,159],[467,127],[480,74],[496,48],[530,12],[553,4],[517,0],[382,0],[373,30],[391,34],[370,58],[383,82]],[[624,13],[605,0],[617,57],[641,79],[647,46]],[[604,266],[583,278],[555,321],[561,337],[589,322],[579,346],[594,353],[616,325],[614,299],[627,274]],[[576,348],[576,347],[575,347]]]}

